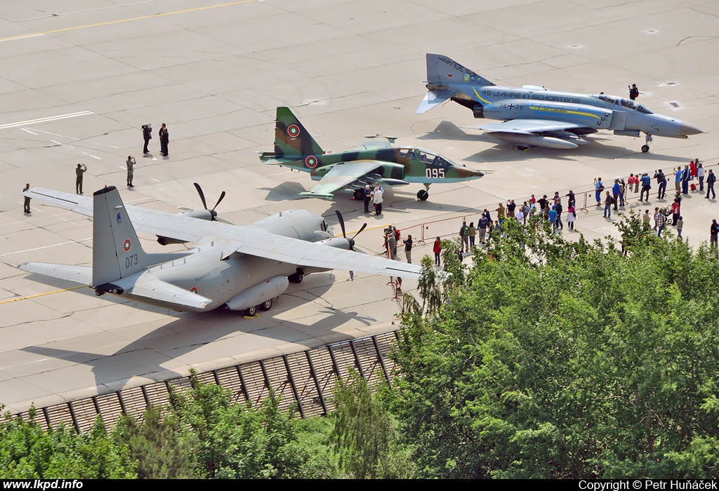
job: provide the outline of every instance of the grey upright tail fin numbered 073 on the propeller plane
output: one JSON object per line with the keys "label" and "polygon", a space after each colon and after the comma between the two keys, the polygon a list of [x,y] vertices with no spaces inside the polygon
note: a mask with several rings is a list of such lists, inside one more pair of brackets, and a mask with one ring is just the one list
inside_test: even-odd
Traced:
{"label": "grey upright tail fin numbered 073 on the propeller plane", "polygon": [[93,195],[92,287],[109,284],[186,253],[148,254],[114,186]]}

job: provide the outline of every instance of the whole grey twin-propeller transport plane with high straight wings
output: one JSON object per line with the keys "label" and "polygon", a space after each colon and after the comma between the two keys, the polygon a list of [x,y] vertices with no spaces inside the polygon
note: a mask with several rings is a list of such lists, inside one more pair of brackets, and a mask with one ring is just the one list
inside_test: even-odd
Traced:
{"label": "whole grey twin-propeller transport plane with high straight wings", "polygon": [[[418,278],[421,271],[354,252],[354,237],[345,235],[339,212],[343,237],[334,238],[321,217],[305,210],[280,212],[240,227],[213,221],[216,214],[209,211],[195,218],[126,206],[114,186],[92,198],[42,188],[25,195],[93,217],[93,266],[30,262],[20,268],[87,284],[97,295],[116,294],[180,312],[221,308],[254,315],[257,307],[269,310],[290,281],[299,283],[318,271],[402,278]],[[146,253],[135,229],[196,246],[180,253]]]}

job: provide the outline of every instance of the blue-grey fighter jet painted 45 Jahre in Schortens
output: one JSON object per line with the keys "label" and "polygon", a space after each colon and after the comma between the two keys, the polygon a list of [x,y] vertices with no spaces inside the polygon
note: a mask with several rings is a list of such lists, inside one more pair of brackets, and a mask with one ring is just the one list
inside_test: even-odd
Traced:
{"label": "blue-grey fighter jet painted 45 Jahre in Schortens", "polygon": [[690,123],[620,97],[555,92],[534,85],[500,87],[442,55],[427,54],[427,80],[429,92],[417,114],[454,100],[470,108],[475,118],[503,121],[470,128],[525,149],[574,149],[589,143],[584,136],[600,129],[623,136],[646,134],[641,151],[649,151],[652,136],[685,139],[702,133]]}

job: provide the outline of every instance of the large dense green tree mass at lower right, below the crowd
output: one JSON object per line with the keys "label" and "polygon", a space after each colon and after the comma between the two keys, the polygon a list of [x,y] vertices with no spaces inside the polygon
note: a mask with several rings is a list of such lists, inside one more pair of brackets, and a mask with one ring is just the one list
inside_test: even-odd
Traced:
{"label": "large dense green tree mass at lower right, below the crowd", "polygon": [[508,220],[439,309],[406,303],[392,408],[424,476],[717,476],[719,263],[619,226],[626,254]]}

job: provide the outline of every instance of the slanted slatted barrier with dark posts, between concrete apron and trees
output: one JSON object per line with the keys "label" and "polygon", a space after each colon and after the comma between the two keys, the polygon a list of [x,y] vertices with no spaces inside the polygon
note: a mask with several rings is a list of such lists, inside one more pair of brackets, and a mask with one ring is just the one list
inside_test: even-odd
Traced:
{"label": "slanted slatted barrier with dark posts, between concrete apron and trees", "polygon": [[[396,331],[385,332],[199,373],[198,379],[222,385],[232,391],[237,403],[249,401],[255,408],[262,405],[272,387],[280,396],[281,410],[296,404],[302,417],[320,416],[334,408],[334,384],[351,368],[371,385],[380,380],[391,383],[390,373],[395,365],[388,353],[396,340]],[[139,385],[38,408],[35,421],[44,430],[64,424],[77,431],[88,431],[97,416],[101,416],[106,428],[110,429],[123,413],[142,419],[142,413],[150,406],[167,406],[170,403],[171,389],[182,391],[189,387],[188,377]],[[17,416],[27,421],[29,411]]]}

